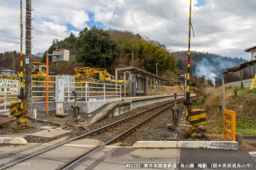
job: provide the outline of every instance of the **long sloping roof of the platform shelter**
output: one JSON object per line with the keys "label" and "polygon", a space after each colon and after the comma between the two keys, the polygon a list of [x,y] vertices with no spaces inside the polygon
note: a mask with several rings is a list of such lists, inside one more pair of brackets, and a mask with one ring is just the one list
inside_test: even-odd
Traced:
{"label": "long sloping roof of the platform shelter", "polygon": [[118,72],[131,72],[132,74],[141,75],[145,78],[154,78],[159,81],[168,81],[168,79],[166,79],[166,78],[162,78],[162,77],[154,75],[150,72],[146,72],[142,69],[135,68],[133,66],[120,67],[120,68],[116,68],[115,70],[117,70]]}

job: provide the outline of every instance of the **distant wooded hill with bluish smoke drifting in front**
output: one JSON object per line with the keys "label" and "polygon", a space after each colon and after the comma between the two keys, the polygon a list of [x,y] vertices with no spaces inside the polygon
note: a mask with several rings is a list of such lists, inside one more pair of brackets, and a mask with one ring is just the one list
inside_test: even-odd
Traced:
{"label": "distant wooded hill with bluish smoke drifting in front", "polygon": [[[177,51],[174,56],[176,57],[177,72],[184,73],[186,69],[186,51]],[[206,80],[213,83],[222,78],[222,72],[225,69],[247,62],[243,58],[222,57],[219,54],[198,51],[192,51],[190,60],[192,76],[198,78],[204,76]]]}

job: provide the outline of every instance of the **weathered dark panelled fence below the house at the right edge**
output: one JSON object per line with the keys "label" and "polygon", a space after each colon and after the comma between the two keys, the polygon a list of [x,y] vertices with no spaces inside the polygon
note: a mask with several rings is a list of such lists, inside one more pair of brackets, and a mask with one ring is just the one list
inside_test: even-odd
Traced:
{"label": "weathered dark panelled fence below the house at the right edge", "polygon": [[254,78],[256,74],[256,65],[248,66],[246,68],[237,70],[237,72],[232,72],[229,75],[225,75],[224,81],[225,84],[235,82],[235,81],[243,81],[246,79]]}

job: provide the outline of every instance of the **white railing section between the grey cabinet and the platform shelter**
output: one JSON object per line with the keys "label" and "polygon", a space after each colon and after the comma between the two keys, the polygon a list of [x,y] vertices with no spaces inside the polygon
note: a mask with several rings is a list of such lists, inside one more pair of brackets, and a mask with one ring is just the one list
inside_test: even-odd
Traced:
{"label": "white railing section between the grey cabinet and the platform shelter", "polygon": [[93,82],[65,82],[64,101],[71,101],[75,98],[73,91],[76,91],[79,101],[100,101],[112,98],[121,98],[121,85],[100,84]]}

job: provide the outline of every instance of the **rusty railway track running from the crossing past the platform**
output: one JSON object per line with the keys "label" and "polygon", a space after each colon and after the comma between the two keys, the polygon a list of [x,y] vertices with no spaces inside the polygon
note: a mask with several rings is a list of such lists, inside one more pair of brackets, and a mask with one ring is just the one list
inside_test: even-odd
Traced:
{"label": "rusty railway track running from the crossing past the platform", "polygon": [[[177,100],[177,103],[182,102],[183,99]],[[87,151],[85,154],[79,155],[79,157],[76,157],[73,160],[70,160],[70,162],[65,163],[64,165],[60,166],[58,169],[74,169],[76,166],[79,166],[80,163],[83,163],[91,154],[96,153],[97,151],[100,151],[103,149],[106,145],[110,145],[114,142],[117,142],[119,139],[123,138],[124,136],[127,136],[128,133],[132,132],[132,130],[135,130],[139,126],[143,125],[148,120],[152,119],[154,116],[159,115],[165,110],[168,110],[168,108],[172,107],[174,105],[174,101],[170,101],[165,104],[160,104],[156,107],[153,107],[148,110],[144,110],[140,113],[137,113],[135,115],[129,116],[125,119],[121,119],[117,122],[114,122],[110,125],[106,125],[104,127],[100,127],[97,130],[93,130],[91,132],[82,134],[81,136],[77,136],[73,139],[69,139],[64,142],[60,142],[58,144],[52,145],[49,148],[45,148],[43,150],[37,151],[34,154],[28,154],[22,157],[17,157],[14,160],[8,161],[8,163],[3,163],[0,165],[0,169],[7,169],[10,166],[16,165],[18,163],[21,163],[25,160],[28,160],[32,157],[36,157],[39,154],[43,154],[46,151],[51,151],[54,148],[58,148],[61,145],[65,145],[68,142],[72,142],[76,139],[82,139],[82,138],[94,138],[94,139],[102,139],[103,143],[102,145],[99,145],[97,148],[91,149],[91,151]],[[164,107],[162,109],[162,107]]]}

